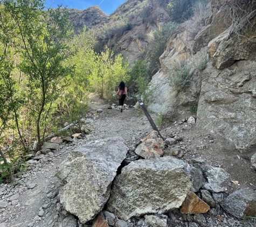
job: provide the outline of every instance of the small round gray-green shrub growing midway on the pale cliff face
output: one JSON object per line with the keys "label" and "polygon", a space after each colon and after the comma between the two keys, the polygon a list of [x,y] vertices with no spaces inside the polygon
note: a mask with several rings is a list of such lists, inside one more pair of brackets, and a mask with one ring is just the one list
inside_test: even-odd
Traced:
{"label": "small round gray-green shrub growing midway on the pale cliff face", "polygon": [[190,86],[192,74],[190,73],[191,67],[188,62],[181,60],[175,61],[171,68],[170,84],[177,90],[183,90]]}

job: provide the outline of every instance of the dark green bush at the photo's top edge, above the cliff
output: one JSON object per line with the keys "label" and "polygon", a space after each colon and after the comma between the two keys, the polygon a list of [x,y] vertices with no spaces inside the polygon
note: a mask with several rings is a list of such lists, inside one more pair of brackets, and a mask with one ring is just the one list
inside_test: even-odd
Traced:
{"label": "dark green bush at the photo's top edge, above the cliff", "polygon": [[170,13],[171,19],[174,22],[182,23],[192,16],[192,6],[198,0],[169,0],[167,9]]}

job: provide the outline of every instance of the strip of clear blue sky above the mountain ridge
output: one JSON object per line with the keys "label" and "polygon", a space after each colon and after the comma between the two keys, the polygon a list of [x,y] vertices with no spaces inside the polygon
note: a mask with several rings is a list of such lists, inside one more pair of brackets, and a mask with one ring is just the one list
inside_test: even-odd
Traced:
{"label": "strip of clear blue sky above the mountain ridge", "polygon": [[56,8],[58,4],[63,3],[63,6],[67,5],[67,8],[74,8],[79,10],[87,9],[93,5],[99,5],[100,9],[109,15],[124,2],[126,2],[126,0],[46,0],[45,5],[47,8],[50,6],[52,8]]}

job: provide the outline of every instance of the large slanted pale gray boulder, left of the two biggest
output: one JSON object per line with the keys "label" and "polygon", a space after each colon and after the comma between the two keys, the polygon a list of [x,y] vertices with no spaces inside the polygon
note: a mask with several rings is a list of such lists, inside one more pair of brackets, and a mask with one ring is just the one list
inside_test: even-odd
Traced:
{"label": "large slanted pale gray boulder, left of the two biggest", "polygon": [[75,148],[60,165],[57,176],[65,182],[60,203],[81,223],[93,219],[104,207],[127,151],[122,138],[96,140]]}

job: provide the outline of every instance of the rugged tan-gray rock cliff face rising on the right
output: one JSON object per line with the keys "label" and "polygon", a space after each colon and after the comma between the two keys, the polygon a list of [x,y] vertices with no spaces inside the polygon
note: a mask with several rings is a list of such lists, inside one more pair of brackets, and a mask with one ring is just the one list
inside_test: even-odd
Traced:
{"label": "rugged tan-gray rock cliff face rising on the right", "polygon": [[[211,1],[204,25],[192,36],[196,18],[172,32],[161,56],[162,70],[153,76],[149,108],[169,124],[191,115],[197,105],[199,129],[222,136],[240,152],[256,147],[256,4],[255,1]],[[232,18],[230,12],[239,15]],[[239,18],[240,17],[240,18]],[[207,65],[202,70],[202,62]],[[174,62],[190,66],[190,87],[170,86]]]}

